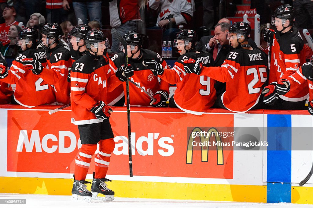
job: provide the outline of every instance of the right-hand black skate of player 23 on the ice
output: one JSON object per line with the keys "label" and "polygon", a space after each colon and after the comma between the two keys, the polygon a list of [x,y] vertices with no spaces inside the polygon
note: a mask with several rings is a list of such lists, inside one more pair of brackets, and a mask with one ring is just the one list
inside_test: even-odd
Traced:
{"label": "right-hand black skate of player 23 on the ice", "polygon": [[[102,201],[113,201],[114,200],[114,191],[107,187],[105,181],[111,181],[106,178],[95,178],[95,172],[93,173],[94,179],[91,184],[91,193],[92,199],[102,200]],[[105,197],[98,196],[98,194],[103,194]]]}

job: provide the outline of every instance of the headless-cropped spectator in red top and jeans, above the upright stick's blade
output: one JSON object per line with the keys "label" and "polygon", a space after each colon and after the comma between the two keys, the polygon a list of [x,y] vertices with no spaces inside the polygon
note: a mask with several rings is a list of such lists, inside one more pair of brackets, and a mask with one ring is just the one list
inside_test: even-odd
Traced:
{"label": "headless-cropped spectator in red top and jeans, above the upright stick's blade", "polygon": [[[116,28],[121,36],[125,35],[129,31],[137,31],[137,27],[139,27],[138,21],[141,22],[137,0],[113,0],[109,2],[109,4],[111,27]],[[120,42],[112,36],[111,51],[113,53],[120,52],[118,51],[119,43]]]}

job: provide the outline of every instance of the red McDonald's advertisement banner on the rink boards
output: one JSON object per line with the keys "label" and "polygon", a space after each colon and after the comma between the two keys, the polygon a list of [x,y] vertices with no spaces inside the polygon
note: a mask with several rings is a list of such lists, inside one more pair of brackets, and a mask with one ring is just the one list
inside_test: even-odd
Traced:
{"label": "red McDonald's advertisement banner on the rink boards", "polygon": [[[195,116],[142,109],[131,112],[134,176],[233,179],[233,148],[221,145],[233,141],[233,114]],[[7,141],[3,171],[37,172],[42,177],[74,173],[74,159],[81,146],[78,128],[70,123],[69,110],[52,115],[48,111],[0,109],[0,133]],[[126,109],[115,109],[110,123],[115,149],[108,174],[127,176]],[[89,174],[93,171],[92,162]]]}

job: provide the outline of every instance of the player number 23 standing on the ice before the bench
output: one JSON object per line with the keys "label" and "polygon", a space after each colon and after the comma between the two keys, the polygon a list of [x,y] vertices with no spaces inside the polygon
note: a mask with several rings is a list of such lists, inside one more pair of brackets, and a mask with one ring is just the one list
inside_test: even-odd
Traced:
{"label": "player number 23 standing on the ice before the bench", "polygon": [[[85,56],[74,62],[71,72],[72,123],[78,125],[82,143],[75,158],[74,184],[72,194],[75,199],[82,196],[85,200],[101,199],[98,193],[105,195],[105,200],[114,200],[114,191],[110,190],[105,178],[108,171],[111,152],[115,147],[109,117],[112,110],[106,102],[109,76],[108,64],[99,61],[109,41],[102,31],[90,30],[86,35]],[[109,74],[110,75],[110,74]],[[117,78],[113,76],[115,80]],[[91,157],[95,156],[95,172],[91,192],[86,189],[85,181]]]}

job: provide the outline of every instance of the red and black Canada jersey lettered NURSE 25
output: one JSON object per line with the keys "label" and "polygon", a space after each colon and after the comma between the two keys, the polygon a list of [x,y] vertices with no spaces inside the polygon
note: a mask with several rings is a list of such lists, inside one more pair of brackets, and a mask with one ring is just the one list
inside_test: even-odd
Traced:
{"label": "red and black Canada jersey lettered NURSE 25", "polygon": [[259,102],[267,79],[267,60],[259,49],[230,51],[220,67],[203,67],[200,75],[226,82],[222,102],[226,109],[245,113]]}

